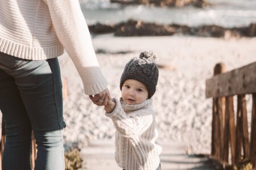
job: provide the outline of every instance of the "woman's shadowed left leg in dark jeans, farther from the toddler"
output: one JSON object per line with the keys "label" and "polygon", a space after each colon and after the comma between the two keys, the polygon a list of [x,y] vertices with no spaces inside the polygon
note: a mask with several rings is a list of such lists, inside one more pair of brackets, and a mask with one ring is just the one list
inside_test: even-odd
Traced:
{"label": "woman's shadowed left leg in dark jeans, farther from the toddler", "polygon": [[0,69],[0,110],[6,124],[2,169],[30,169],[31,125],[14,78]]}

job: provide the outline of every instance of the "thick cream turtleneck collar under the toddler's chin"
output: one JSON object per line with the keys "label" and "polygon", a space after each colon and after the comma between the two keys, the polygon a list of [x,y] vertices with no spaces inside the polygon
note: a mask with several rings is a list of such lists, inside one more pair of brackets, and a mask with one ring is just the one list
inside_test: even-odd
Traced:
{"label": "thick cream turtleneck collar under the toddler's chin", "polygon": [[140,104],[126,104],[125,101],[123,101],[123,99],[121,97],[120,103],[122,105],[123,111],[132,112],[132,111],[136,111],[136,110],[142,109],[142,108],[145,108],[145,109],[150,108],[152,105],[152,98],[147,99]]}

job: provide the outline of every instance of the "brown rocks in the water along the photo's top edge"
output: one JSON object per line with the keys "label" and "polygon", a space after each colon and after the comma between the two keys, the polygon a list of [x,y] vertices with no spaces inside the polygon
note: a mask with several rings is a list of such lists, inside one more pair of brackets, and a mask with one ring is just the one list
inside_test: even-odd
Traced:
{"label": "brown rocks in the water along the photo's top edge", "polygon": [[203,8],[209,6],[207,0],[110,0],[112,3],[120,3],[122,5],[155,5],[168,7],[184,7],[192,5]]}

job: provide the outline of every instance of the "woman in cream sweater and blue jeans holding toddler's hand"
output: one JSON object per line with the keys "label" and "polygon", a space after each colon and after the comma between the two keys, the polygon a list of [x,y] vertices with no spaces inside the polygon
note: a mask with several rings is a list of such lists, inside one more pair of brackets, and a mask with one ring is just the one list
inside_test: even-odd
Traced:
{"label": "woman in cream sweater and blue jeans holding toddler's hand", "polygon": [[63,103],[56,57],[67,50],[86,95],[106,105],[109,92],[78,0],[0,1],[0,110],[6,123],[3,169],[64,169]]}

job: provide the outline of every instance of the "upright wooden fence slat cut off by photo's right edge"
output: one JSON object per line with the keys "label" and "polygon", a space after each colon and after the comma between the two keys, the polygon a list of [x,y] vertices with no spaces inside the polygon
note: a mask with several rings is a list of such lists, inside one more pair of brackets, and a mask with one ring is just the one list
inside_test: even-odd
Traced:
{"label": "upright wooden fence slat cut off by photo's right edge", "polygon": [[251,111],[251,141],[250,141],[250,162],[253,169],[256,168],[256,94],[253,94],[253,109]]}

